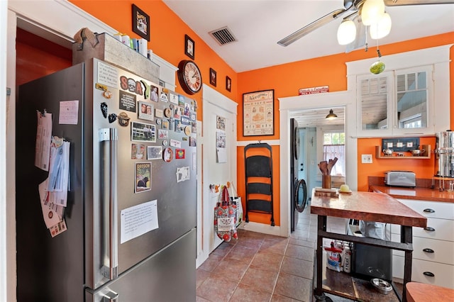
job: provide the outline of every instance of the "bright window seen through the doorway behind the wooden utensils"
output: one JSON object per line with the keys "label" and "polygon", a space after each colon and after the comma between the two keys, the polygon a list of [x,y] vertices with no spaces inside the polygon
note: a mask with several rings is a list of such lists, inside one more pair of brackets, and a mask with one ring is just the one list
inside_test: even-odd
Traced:
{"label": "bright window seen through the doorway behind the wooden utensils", "polygon": [[345,132],[344,131],[324,131],[323,132],[323,160],[333,160],[338,158],[338,162],[331,169],[331,175],[345,177]]}

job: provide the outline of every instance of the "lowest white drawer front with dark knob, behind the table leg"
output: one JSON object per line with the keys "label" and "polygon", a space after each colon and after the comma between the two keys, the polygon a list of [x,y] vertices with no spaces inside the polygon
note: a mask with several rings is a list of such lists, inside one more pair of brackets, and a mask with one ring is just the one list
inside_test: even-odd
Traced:
{"label": "lowest white drawer front with dark knob, behind the table leg", "polygon": [[[454,289],[454,265],[413,259],[411,281]],[[404,279],[404,257],[392,256],[392,274]],[[433,276],[432,276],[433,275]]]}

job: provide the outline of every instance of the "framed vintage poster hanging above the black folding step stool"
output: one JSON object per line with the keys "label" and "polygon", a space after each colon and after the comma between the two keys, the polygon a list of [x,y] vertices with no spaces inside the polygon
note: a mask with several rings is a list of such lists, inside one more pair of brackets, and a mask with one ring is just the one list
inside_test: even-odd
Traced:
{"label": "framed vintage poster hanging above the black folding step stool", "polygon": [[243,94],[243,136],[275,134],[275,90]]}

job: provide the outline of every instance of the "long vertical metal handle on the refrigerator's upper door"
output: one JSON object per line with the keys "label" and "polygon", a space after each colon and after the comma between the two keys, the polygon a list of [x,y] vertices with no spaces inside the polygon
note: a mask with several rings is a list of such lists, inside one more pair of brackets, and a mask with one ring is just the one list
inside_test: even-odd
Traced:
{"label": "long vertical metal handle on the refrigerator's upper door", "polygon": [[[118,221],[117,221],[117,156],[118,133],[116,128],[99,130],[101,140],[101,202],[104,207],[103,275],[110,280],[118,277]],[[111,300],[115,301],[115,300]]]}

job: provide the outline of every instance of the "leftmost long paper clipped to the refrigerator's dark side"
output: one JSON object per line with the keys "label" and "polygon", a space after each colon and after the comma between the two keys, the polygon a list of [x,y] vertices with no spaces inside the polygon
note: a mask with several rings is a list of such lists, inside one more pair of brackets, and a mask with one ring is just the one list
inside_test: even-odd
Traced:
{"label": "leftmost long paper clipped to the refrigerator's dark side", "polygon": [[52,113],[40,113],[36,127],[35,166],[49,171],[50,137],[52,136]]}

